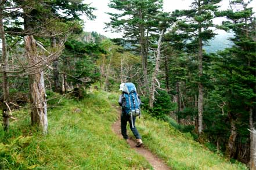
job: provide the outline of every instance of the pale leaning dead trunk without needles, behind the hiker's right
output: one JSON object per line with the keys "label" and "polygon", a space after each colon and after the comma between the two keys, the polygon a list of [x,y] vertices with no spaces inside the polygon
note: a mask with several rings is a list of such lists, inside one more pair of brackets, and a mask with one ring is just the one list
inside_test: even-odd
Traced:
{"label": "pale leaning dead trunk without needles, behind the hiker's right", "polygon": [[[150,108],[153,108],[154,100],[155,100],[154,93],[156,91],[157,74],[159,72],[159,67],[160,67],[161,45],[162,45],[163,35],[164,35],[164,29],[162,29],[160,37],[158,39],[156,66],[154,67],[154,72],[153,72],[153,76],[152,76],[152,83],[151,83],[151,88],[150,88],[150,97],[149,97],[149,106],[150,106]],[[159,86],[159,84],[158,84],[158,86]]]}

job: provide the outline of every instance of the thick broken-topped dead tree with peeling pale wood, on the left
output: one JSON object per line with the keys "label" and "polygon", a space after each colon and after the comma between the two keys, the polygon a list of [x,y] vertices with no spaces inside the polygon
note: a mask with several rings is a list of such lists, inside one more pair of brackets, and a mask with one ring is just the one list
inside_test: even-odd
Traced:
{"label": "thick broken-topped dead tree with peeling pale wood, on the left", "polygon": [[[26,74],[30,82],[31,124],[38,125],[44,134],[48,131],[47,104],[44,83],[44,71],[46,68],[53,69],[51,62],[56,60],[62,51],[62,47],[51,54],[32,35],[24,37],[26,48]],[[62,44],[63,46],[63,44]],[[46,51],[48,56],[39,55],[37,48]],[[42,53],[45,54],[45,53]]]}

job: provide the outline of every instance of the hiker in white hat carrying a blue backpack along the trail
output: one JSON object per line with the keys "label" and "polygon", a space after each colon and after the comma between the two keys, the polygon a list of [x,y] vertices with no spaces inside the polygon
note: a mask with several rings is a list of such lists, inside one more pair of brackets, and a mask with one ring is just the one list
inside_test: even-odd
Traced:
{"label": "hiker in white hat carrying a blue backpack along the trail", "polygon": [[[140,147],[143,143],[142,143],[142,139],[141,136],[139,135],[139,132],[137,130],[137,128],[135,127],[135,120],[136,120],[136,116],[131,116],[128,113],[131,112],[131,107],[135,106],[135,102],[138,102],[138,107],[141,105],[141,101],[139,96],[136,94],[136,87],[134,86],[133,83],[126,83],[127,86],[133,86],[132,88],[134,89],[133,93],[135,93],[135,97],[136,99],[129,99],[129,101],[126,101],[127,99],[125,99],[125,94],[127,94],[127,90],[128,88],[126,88],[125,83],[120,84],[120,91],[122,91],[122,94],[119,97],[118,100],[118,104],[122,107],[122,112],[121,112],[121,134],[124,137],[125,140],[127,140],[128,143],[128,135],[127,135],[127,121],[129,121],[129,125],[131,128],[132,133],[134,134],[135,138],[136,138],[136,147]],[[129,93],[129,92],[128,92]],[[128,102],[128,103],[127,103]],[[131,103],[133,102],[134,105],[131,105]],[[130,104],[130,106],[129,106]],[[127,107],[129,106],[129,107]],[[131,108],[131,109],[130,109]],[[140,114],[140,110],[139,110],[139,114]]]}

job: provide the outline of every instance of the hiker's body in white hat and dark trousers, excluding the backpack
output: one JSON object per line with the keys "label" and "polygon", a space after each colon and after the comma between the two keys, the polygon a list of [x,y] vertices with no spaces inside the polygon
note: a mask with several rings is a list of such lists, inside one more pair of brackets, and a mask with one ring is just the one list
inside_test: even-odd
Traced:
{"label": "hiker's body in white hat and dark trousers, excluding the backpack", "polygon": [[[136,147],[140,147],[143,142],[142,142],[142,138],[137,130],[137,128],[135,127],[135,121],[136,121],[136,117],[135,116],[130,116],[128,114],[128,112],[130,112],[131,110],[125,108],[127,106],[127,102],[125,97],[124,97],[124,93],[125,93],[125,83],[120,84],[120,91],[122,92],[122,94],[120,95],[119,99],[118,99],[118,104],[121,106],[122,108],[122,112],[121,112],[121,134],[123,136],[123,138],[125,140],[127,140],[128,142],[128,135],[127,135],[127,121],[129,122],[129,127],[132,131],[132,133],[134,134],[135,138],[136,138]],[[136,87],[135,88],[135,92],[136,92]],[[137,95],[138,96],[138,95]],[[141,105],[141,101],[140,98],[138,96],[138,102],[139,105]]]}

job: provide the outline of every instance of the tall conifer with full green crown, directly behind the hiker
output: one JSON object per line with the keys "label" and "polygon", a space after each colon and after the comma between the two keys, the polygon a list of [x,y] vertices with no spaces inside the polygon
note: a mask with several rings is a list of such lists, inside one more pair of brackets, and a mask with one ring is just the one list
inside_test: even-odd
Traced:
{"label": "tall conifer with full green crown, directly behind the hiker", "polygon": [[124,31],[125,39],[140,46],[143,81],[149,94],[147,71],[149,40],[156,31],[157,14],[163,10],[163,0],[111,0],[109,7],[117,9],[120,13],[109,13],[111,21],[107,23],[107,27],[115,31]]}

